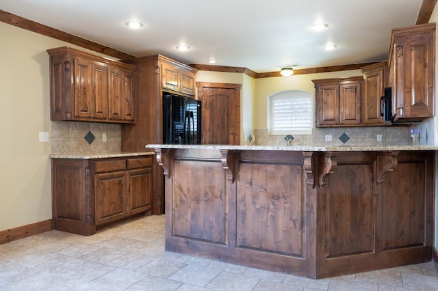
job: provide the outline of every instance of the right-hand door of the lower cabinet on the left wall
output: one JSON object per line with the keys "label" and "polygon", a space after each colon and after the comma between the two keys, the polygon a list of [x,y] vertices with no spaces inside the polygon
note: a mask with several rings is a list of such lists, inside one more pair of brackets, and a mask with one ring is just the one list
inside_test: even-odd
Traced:
{"label": "right-hand door of the lower cabinet on the left wall", "polygon": [[130,215],[152,209],[152,167],[127,172],[128,212]]}

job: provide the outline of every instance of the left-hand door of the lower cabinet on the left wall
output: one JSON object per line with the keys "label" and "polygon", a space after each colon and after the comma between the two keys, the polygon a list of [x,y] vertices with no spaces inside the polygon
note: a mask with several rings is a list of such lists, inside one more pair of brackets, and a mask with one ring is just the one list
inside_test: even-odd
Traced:
{"label": "left-hand door of the lower cabinet on the left wall", "polygon": [[127,215],[125,171],[94,176],[96,225],[110,223]]}

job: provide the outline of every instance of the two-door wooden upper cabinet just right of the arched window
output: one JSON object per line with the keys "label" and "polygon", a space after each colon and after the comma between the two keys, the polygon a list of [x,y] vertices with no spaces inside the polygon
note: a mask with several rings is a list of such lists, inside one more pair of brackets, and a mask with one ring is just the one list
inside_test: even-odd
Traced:
{"label": "two-door wooden upper cabinet just right of the arched window", "polygon": [[361,126],[363,77],[312,80],[316,127]]}

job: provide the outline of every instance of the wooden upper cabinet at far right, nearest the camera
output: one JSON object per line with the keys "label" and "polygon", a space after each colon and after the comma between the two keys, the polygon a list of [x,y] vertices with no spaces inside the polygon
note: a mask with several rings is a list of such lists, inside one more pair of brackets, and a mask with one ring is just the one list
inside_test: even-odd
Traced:
{"label": "wooden upper cabinet at far right, nearest the camera", "polygon": [[394,121],[435,115],[435,23],[393,29],[389,86]]}

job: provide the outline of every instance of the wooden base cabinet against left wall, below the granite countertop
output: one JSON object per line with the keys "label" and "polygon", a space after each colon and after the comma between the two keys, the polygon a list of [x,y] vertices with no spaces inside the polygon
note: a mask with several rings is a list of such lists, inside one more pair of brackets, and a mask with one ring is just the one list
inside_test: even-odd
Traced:
{"label": "wooden base cabinet against left wall, below the granite countertop", "polygon": [[53,228],[91,235],[96,228],[150,214],[153,155],[52,158]]}

